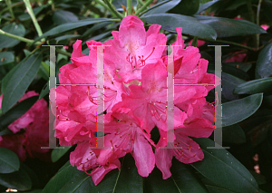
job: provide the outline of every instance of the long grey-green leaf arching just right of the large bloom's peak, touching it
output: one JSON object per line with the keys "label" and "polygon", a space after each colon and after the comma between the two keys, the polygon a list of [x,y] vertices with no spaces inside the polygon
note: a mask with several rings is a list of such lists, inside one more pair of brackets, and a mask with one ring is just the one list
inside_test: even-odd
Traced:
{"label": "long grey-green leaf arching just right of the large bloom's peak, touching it", "polygon": [[170,32],[176,33],[177,27],[182,27],[182,34],[189,34],[203,38],[216,39],[216,32],[207,24],[201,24],[191,16],[181,14],[151,14],[141,19],[151,23],[160,24]]}

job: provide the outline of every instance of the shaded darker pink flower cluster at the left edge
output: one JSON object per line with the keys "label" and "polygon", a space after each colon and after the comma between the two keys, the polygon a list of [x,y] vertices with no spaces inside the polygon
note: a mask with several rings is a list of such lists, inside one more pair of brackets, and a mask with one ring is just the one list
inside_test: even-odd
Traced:
{"label": "shaded darker pink flower cluster at the left edge", "polygon": [[[33,91],[26,92],[19,101],[36,95],[39,94]],[[0,97],[0,109],[2,100],[3,95]],[[47,102],[44,99],[36,101],[23,116],[8,126],[14,134],[0,136],[0,147],[13,150],[21,161],[24,161],[27,156],[50,161],[49,149],[41,149],[41,147],[48,147],[48,120]]]}

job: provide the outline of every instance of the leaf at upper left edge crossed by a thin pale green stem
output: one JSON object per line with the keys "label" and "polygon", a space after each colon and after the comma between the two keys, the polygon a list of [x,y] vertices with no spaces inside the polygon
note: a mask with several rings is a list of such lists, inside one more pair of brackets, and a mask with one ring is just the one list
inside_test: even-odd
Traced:
{"label": "leaf at upper left edge crossed by a thin pale green stem", "polygon": [[[15,24],[15,23],[8,24],[8,25],[5,25],[5,27],[3,27],[2,30],[6,33],[15,34],[21,37],[24,37],[24,34],[25,34],[25,29],[23,24]],[[0,49],[13,47],[18,43],[20,43],[20,40],[0,34]]]}

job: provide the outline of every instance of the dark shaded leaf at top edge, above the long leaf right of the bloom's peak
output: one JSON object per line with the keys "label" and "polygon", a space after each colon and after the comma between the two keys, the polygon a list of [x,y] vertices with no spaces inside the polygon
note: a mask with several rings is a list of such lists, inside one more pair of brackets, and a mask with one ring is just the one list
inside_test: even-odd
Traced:
{"label": "dark shaded leaf at top edge, above the long leaf right of the bloom's peak", "polygon": [[173,14],[193,15],[199,10],[199,0],[182,0],[179,5],[170,10]]}

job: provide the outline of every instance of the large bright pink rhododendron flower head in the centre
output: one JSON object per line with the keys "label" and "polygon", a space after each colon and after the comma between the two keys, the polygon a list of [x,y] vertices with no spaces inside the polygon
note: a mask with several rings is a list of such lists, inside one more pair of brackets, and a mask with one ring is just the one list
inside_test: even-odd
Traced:
{"label": "large bright pink rhododendron flower head in the centre", "polygon": [[[113,39],[87,42],[89,55],[82,53],[82,41],[73,44],[72,63],[60,69],[61,86],[52,101],[56,137],[62,146],[77,144],[71,164],[92,175],[95,185],[110,170],[120,169],[119,159],[127,153],[142,177],[148,177],[156,165],[163,179],[171,176],[173,156],[183,163],[204,158],[190,137],[208,138],[214,130],[215,106],[205,97],[219,80],[207,73],[208,61],[200,58],[198,48],[185,48],[181,28],[177,33],[177,41],[170,45],[173,72],[168,72],[167,38],[160,25],[152,24],[146,32],[134,15],[122,20],[119,32],[112,32]],[[103,88],[97,82],[101,74],[95,45],[104,45]],[[168,89],[169,73],[174,76],[174,93]],[[173,116],[167,110],[168,94],[174,96]],[[104,114],[97,111],[102,102]],[[97,125],[102,124],[98,116],[104,116],[105,148],[96,147],[97,138],[102,138],[96,137]],[[155,126],[160,131],[157,144],[151,140]]]}

